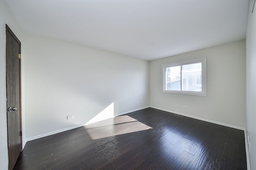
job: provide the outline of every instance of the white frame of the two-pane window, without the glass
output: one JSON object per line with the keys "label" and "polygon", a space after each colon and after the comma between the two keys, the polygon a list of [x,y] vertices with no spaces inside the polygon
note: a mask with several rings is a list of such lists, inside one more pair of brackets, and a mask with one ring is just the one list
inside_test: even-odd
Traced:
{"label": "white frame of the two-pane window, without the glass", "polygon": [[[182,66],[186,64],[202,63],[202,92],[195,91],[182,91],[182,90],[166,90],[166,67]],[[186,94],[195,96],[207,96],[207,72],[206,72],[206,57],[179,61],[175,63],[162,64],[162,92],[163,93],[173,93],[173,94]]]}

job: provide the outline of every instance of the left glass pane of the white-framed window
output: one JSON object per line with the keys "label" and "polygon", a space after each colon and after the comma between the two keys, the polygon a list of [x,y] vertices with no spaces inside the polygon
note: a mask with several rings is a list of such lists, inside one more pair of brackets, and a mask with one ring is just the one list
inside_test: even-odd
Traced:
{"label": "left glass pane of the white-framed window", "polygon": [[166,90],[180,89],[180,66],[166,67]]}

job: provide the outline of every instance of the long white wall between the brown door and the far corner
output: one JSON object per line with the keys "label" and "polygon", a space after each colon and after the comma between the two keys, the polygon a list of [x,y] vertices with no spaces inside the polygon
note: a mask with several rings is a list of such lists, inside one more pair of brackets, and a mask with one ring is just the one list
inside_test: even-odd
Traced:
{"label": "long white wall between the brown door and the far corner", "polygon": [[149,105],[148,61],[34,35],[24,46],[28,140]]}

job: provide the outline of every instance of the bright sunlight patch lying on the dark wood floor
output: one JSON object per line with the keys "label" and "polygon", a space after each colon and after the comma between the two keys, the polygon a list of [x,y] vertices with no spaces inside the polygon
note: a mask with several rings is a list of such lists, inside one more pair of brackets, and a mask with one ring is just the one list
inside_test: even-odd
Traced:
{"label": "bright sunlight patch lying on the dark wood floor", "polygon": [[85,125],[84,128],[88,131],[92,139],[100,139],[152,129],[152,127],[145,125],[128,115],[113,117],[90,125]]}

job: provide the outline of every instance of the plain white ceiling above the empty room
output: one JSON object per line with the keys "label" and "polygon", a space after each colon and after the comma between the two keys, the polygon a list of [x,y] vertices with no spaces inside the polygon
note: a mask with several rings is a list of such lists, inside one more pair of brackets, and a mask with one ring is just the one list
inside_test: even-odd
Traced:
{"label": "plain white ceiling above the empty room", "polygon": [[154,60],[245,39],[250,0],[6,0],[27,33]]}

